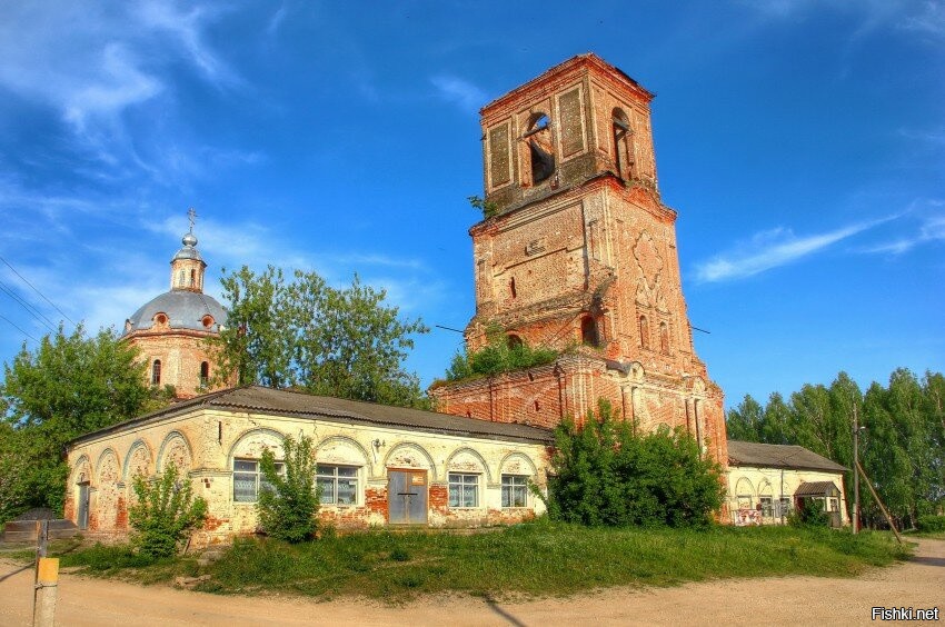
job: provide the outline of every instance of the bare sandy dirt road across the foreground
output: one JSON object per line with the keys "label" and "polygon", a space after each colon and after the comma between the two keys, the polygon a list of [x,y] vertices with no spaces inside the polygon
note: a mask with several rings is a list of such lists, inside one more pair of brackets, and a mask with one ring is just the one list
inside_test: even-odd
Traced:
{"label": "bare sandy dirt road across the foreground", "polygon": [[[28,625],[32,571],[0,561],[0,625]],[[63,575],[57,624],[82,625],[866,625],[873,606],[939,608],[945,541],[921,540],[907,564],[855,579],[785,577],[611,588],[568,599],[490,604],[432,597],[391,608],[372,601],[223,597]]]}

